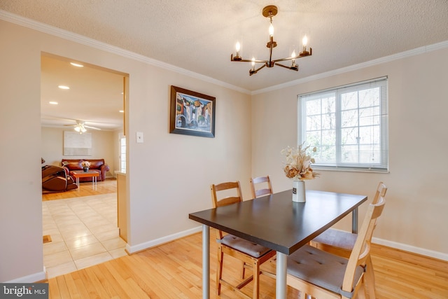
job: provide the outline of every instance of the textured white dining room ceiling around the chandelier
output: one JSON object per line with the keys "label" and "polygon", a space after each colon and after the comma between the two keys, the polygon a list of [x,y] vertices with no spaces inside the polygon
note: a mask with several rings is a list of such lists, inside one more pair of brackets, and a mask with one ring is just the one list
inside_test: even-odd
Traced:
{"label": "textured white dining room ceiling around the chandelier", "polygon": [[[298,52],[304,33],[313,55],[298,72],[248,76],[251,65],[230,54],[239,40],[245,59],[268,58],[270,4],[273,59]],[[1,0],[0,9],[249,91],[448,41],[448,0]]]}

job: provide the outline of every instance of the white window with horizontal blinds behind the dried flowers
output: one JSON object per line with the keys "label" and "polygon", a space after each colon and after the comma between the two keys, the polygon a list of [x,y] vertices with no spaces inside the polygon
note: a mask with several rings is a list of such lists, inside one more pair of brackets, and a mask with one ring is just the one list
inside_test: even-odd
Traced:
{"label": "white window with horizontal blinds behind the dried flowers", "polygon": [[[320,90],[317,92],[309,92],[307,94],[298,95],[297,96],[297,140],[298,144],[306,144],[310,146],[316,146],[318,151],[314,155],[314,158],[316,160],[316,163],[314,163],[314,169],[324,169],[324,170],[344,170],[344,171],[360,171],[360,172],[388,172],[388,92],[387,92],[387,84],[388,80],[387,77],[381,77],[381,78],[375,78],[369,81],[363,81],[358,83],[353,83],[349,85],[343,85],[339,86],[337,88],[330,88],[327,90]],[[373,116],[369,119],[372,123],[368,123],[367,125],[362,125],[359,123],[359,120],[362,121],[362,119],[359,116],[361,113],[365,112],[366,109],[364,109],[363,106],[361,106],[360,103],[365,104],[366,102],[362,101],[362,97],[360,96],[362,90],[375,90],[379,91],[379,97],[372,97],[372,100],[368,103],[372,103],[372,110],[378,111],[378,113],[372,114]],[[345,109],[342,107],[342,98],[343,95],[349,95],[349,94],[356,94],[356,101],[357,106],[354,109]],[[330,95],[330,97],[328,97]],[[325,97],[327,96],[327,97]],[[345,97],[346,98],[346,97]],[[374,99],[379,98],[379,103],[375,102]],[[311,101],[314,100],[313,104],[316,103],[322,103],[325,102],[325,99],[330,99],[328,102],[331,102],[334,100],[334,109],[332,108],[331,111],[323,112],[322,105],[320,106],[320,113],[311,114],[309,113],[309,116],[307,116],[307,102],[311,105]],[[365,99],[365,98],[364,98]],[[369,98],[370,99],[370,98]],[[317,102],[316,102],[317,101]],[[346,101],[348,102],[348,101]],[[353,102],[353,101],[352,101]],[[316,106],[314,106],[316,107]],[[367,107],[368,108],[368,107]],[[311,109],[309,109],[311,111]],[[316,111],[316,110],[314,110]],[[357,125],[354,125],[351,127],[353,131],[360,132],[361,130],[368,128],[370,129],[370,140],[373,140],[368,146],[366,144],[363,144],[363,139],[361,139],[359,136],[360,134],[357,134],[356,141],[357,144],[349,144],[349,141],[345,141],[346,144],[343,144],[344,141],[342,141],[342,135],[343,131],[347,129],[347,127],[344,127],[342,123],[345,123],[345,120],[348,120],[349,118],[344,118],[342,115],[347,112],[352,112],[356,115],[357,118]],[[334,114],[334,116],[330,116],[330,114]],[[345,114],[346,115],[346,114]],[[307,119],[310,120],[312,118],[316,119],[321,117],[323,118],[331,118],[334,120],[332,123],[332,129],[331,130],[324,130],[325,127],[323,127],[323,120],[321,120],[320,127],[319,125],[316,125],[318,122],[311,123],[309,122],[307,124]],[[376,123],[374,123],[376,122]],[[328,122],[327,122],[328,123]],[[307,128],[308,125],[308,128]],[[311,130],[311,125],[313,126]],[[317,128],[316,128],[317,127]],[[328,125],[327,125],[328,127]],[[322,136],[325,134],[325,132],[331,131],[332,134],[335,135],[334,138],[328,138],[328,134],[325,135],[325,138]],[[308,135],[307,135],[308,134]],[[314,135],[314,138],[311,138],[311,136]],[[320,139],[316,136],[321,136]],[[331,135],[331,134],[330,134]],[[314,140],[307,140],[308,139],[314,139]],[[346,136],[346,135],[344,135]],[[319,140],[318,140],[319,139]],[[330,146],[323,146],[323,139],[325,139],[325,142],[328,142],[326,140],[332,140],[334,141],[334,144]],[[360,141],[361,139],[361,141]],[[330,141],[330,143],[332,142]],[[319,144],[320,143],[320,144]],[[344,147],[350,147],[351,148],[357,148],[354,152],[353,156],[357,157],[357,160],[352,159],[349,160],[349,158],[343,158],[343,154],[349,154],[353,153],[353,151],[344,151]],[[368,151],[364,151],[365,148],[370,147]],[[324,151],[327,150],[327,152],[324,154]],[[319,152],[321,151],[321,152]],[[346,157],[346,155],[344,155]],[[365,158],[365,157],[372,157]],[[328,158],[330,157],[330,158]],[[319,160],[321,158],[321,160]],[[327,160],[325,160],[327,159]],[[344,160],[346,159],[346,160]],[[371,161],[371,162],[370,162]]]}

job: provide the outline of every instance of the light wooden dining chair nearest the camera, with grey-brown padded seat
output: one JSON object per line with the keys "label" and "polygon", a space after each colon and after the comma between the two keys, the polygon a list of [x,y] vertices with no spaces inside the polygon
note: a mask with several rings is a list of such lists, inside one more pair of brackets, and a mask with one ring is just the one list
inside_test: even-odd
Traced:
{"label": "light wooden dining chair nearest the camera, with grey-brown padded seat", "polygon": [[[370,258],[370,242],[377,218],[384,209],[384,197],[370,204],[350,257],[343,258],[314,246],[304,245],[288,256],[288,286],[300,291],[300,299],[365,298],[365,286],[372,281],[365,275]],[[370,298],[371,297],[369,294]]]}

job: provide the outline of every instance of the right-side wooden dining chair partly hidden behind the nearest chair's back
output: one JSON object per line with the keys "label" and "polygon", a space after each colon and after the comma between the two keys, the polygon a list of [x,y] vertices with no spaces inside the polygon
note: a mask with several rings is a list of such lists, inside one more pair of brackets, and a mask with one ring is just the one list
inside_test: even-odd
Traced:
{"label": "right-side wooden dining chair partly hidden behind the nearest chair's back", "polygon": [[[386,197],[386,191],[387,191],[386,185],[382,181],[380,181],[377,186],[377,191],[375,192],[375,195],[373,197],[372,204],[376,204],[380,197]],[[310,244],[311,246],[315,246],[316,248],[321,249],[323,251],[337,254],[338,256],[342,256],[344,258],[349,258],[351,251],[353,250],[353,246],[355,246],[357,237],[358,237],[357,234],[353,234],[351,232],[329,228],[328,230],[325,230],[325,232],[321,233],[321,235],[318,235],[316,238],[314,238],[310,242]],[[372,236],[367,237],[370,239],[372,238]],[[369,282],[372,283],[372,286],[367,286],[367,290],[371,295],[373,295],[375,279],[374,279],[372,259],[370,258],[370,256],[369,258],[367,258],[366,263],[368,266],[366,273],[366,276],[368,277],[367,284]]]}

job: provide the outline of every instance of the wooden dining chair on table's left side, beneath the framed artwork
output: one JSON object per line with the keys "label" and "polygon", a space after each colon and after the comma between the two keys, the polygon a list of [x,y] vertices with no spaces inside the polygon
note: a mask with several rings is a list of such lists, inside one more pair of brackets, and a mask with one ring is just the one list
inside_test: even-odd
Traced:
{"label": "wooden dining chair on table's left side, beneath the framed artwork", "polygon": [[[243,197],[241,195],[241,186],[239,181],[211,185],[211,200],[214,208],[242,202]],[[275,278],[274,273],[261,271],[260,265],[275,256],[276,251],[245,239],[241,239],[234,235],[225,235],[221,230],[216,230],[216,242],[218,242],[218,267],[216,270],[217,294],[221,294],[221,285],[225,285],[245,298],[258,299],[260,293],[260,274],[266,274],[269,277]],[[242,262],[241,279],[243,279],[243,281],[241,281],[241,283],[237,286],[234,286],[223,279],[223,263],[225,254],[237,258]],[[251,277],[244,279],[246,267],[251,268],[253,270],[253,274]],[[246,284],[251,281],[253,281],[252,297],[241,291],[241,288],[246,286]]]}

